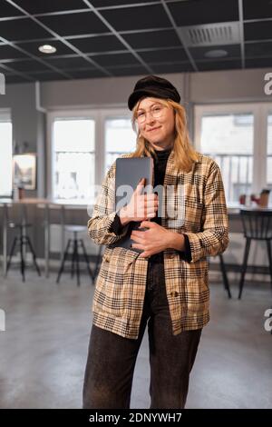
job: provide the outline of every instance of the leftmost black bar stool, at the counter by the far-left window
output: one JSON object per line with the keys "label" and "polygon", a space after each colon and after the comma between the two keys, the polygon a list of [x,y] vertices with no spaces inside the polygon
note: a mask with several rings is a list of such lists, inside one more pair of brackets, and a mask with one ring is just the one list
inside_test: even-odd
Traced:
{"label": "leftmost black bar stool, at the counter by the far-left window", "polygon": [[31,223],[26,223],[26,214],[25,214],[25,206],[22,205],[21,206],[21,222],[16,223],[13,221],[10,221],[9,219],[7,220],[7,226],[9,229],[11,230],[18,230],[18,233],[15,235],[15,238],[13,240],[12,246],[11,246],[11,251],[9,253],[9,258],[8,258],[8,262],[6,265],[6,273],[8,273],[8,270],[10,268],[11,262],[12,262],[12,258],[15,254],[15,248],[16,246],[19,246],[20,248],[20,268],[21,268],[21,273],[22,273],[22,278],[23,278],[23,282],[25,281],[25,253],[27,251],[27,248],[29,248],[30,253],[32,254],[33,257],[33,263],[34,263],[34,267],[38,273],[38,275],[41,275],[41,271],[39,268],[39,265],[36,262],[36,254],[34,252],[34,247],[33,244],[31,243],[31,240],[29,238],[29,236],[26,234],[26,229],[31,227],[32,224]]}

